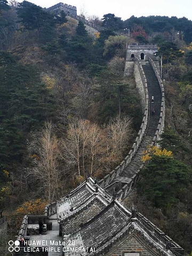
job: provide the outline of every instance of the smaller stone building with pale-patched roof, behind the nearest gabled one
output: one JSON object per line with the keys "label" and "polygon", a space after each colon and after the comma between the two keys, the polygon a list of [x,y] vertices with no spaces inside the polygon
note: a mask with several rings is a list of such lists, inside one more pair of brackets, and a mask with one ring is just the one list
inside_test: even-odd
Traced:
{"label": "smaller stone building with pale-patched roof, behind the nearest gabled one", "polygon": [[57,203],[60,236],[81,229],[111,202],[111,196],[97,185],[92,178],[83,182],[67,197]]}

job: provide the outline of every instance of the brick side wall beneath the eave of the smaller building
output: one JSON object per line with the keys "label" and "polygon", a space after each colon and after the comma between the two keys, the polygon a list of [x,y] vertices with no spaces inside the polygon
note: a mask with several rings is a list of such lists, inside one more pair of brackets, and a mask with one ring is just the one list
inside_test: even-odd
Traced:
{"label": "brick side wall beneath the eave of the smaller building", "polygon": [[83,212],[78,213],[72,219],[68,219],[62,225],[63,235],[68,235],[78,230],[80,228],[80,225],[91,220],[103,208],[104,208],[104,205],[97,200],[90,207],[85,209]]}

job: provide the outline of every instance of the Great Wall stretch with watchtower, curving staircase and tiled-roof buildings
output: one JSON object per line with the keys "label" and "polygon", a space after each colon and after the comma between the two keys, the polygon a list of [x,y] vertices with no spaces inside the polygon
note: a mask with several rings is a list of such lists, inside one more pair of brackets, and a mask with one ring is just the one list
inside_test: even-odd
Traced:
{"label": "Great Wall stretch with watchtower, curving staircase and tiled-roof buildings", "polygon": [[[72,9],[75,10],[74,6]],[[67,196],[47,205],[44,215],[23,218],[18,241],[22,238],[26,241],[62,241],[65,245],[59,245],[60,252],[45,252],[39,246],[38,253],[30,253],[20,246],[15,256],[184,255],[184,250],[162,230],[134,207],[130,210],[123,204],[143,168],[142,151],[156,145],[164,129],[164,85],[159,75],[158,58],[154,55],[156,51],[156,45],[127,47],[124,75],[134,76],[143,110],[140,130],[129,154],[100,181],[90,177]],[[152,109],[155,109],[153,114]],[[37,232],[40,222],[45,225],[42,236]],[[75,241],[75,244],[68,244],[68,241]],[[76,251],[76,247],[82,250]]]}

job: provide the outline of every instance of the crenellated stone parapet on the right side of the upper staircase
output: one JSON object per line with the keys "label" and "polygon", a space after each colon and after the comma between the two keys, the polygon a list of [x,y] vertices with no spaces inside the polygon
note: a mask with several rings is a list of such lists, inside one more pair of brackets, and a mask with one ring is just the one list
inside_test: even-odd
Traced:
{"label": "crenellated stone parapet on the right side of the upper staircase", "polygon": [[165,124],[165,93],[164,93],[164,85],[163,85],[161,76],[159,75],[157,66],[155,65],[155,62],[151,58],[149,58],[149,62],[150,62],[151,67],[154,70],[154,73],[157,77],[158,84],[159,84],[159,86],[161,88],[161,92],[162,92],[161,112],[160,112],[160,116],[159,116],[159,122],[158,122],[157,130],[155,132],[153,142],[151,143],[151,146],[155,146],[156,142],[160,139],[160,135],[163,132],[164,124]]}

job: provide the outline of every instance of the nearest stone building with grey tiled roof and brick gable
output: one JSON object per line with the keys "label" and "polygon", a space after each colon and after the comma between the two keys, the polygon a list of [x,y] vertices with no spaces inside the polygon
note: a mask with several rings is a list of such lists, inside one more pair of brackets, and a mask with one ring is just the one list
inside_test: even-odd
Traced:
{"label": "nearest stone building with grey tiled roof and brick gable", "polygon": [[[66,244],[75,241],[74,245],[65,247],[65,256],[173,256],[183,253],[177,243],[142,214],[135,209],[130,212],[117,200],[63,240]],[[75,252],[75,247],[81,249],[80,254]]]}

